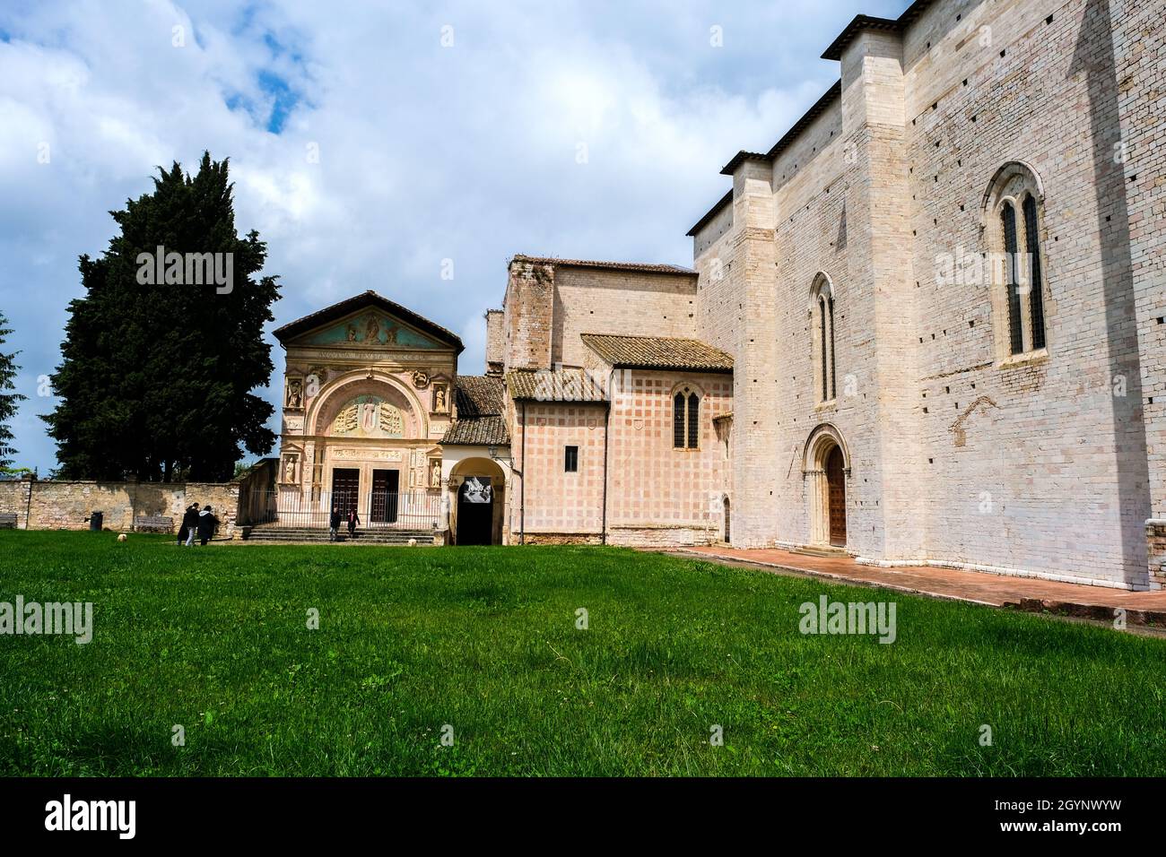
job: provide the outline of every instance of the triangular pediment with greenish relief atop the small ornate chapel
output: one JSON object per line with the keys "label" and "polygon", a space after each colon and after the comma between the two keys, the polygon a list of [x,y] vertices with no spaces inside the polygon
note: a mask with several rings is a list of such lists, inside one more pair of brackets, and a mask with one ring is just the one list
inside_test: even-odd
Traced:
{"label": "triangular pediment with greenish relief atop the small ornate chapel", "polygon": [[365,291],[304,316],[275,331],[283,345],[324,349],[449,350],[461,338],[428,318]]}

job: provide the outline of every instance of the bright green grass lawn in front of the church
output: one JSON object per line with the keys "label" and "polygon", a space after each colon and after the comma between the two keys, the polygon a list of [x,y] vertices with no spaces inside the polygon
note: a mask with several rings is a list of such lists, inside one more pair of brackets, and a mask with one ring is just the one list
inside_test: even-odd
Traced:
{"label": "bright green grass lawn in front of the church", "polygon": [[94,633],[0,635],[0,774],[1166,773],[1161,639],[630,550],[3,532],[17,595]]}

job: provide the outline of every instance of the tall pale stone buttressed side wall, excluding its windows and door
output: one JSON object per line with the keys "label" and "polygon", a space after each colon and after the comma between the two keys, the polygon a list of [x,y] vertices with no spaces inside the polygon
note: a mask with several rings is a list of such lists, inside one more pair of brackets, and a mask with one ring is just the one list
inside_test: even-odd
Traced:
{"label": "tall pale stone buttressed side wall, excluding its windows and door", "polygon": [[[1152,583],[1144,524],[1166,519],[1163,33],[1160,7],[1136,0],[940,0],[902,37],[859,33],[841,99],[772,162],[740,162],[732,205],[694,236],[697,338],[737,361],[735,545],[810,540],[802,452],[830,423],[850,456],[852,554]],[[998,353],[1006,322],[986,283],[936,274],[946,254],[992,250],[983,199],[1010,161],[1044,188],[1048,347],[1020,361]],[[837,314],[826,406],[820,273]],[[1149,535],[1161,575],[1166,522]]]}

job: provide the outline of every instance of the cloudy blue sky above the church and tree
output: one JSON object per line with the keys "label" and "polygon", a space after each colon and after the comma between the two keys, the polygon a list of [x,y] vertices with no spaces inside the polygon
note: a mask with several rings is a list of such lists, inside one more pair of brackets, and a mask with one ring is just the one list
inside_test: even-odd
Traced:
{"label": "cloudy blue sky above the church and tree", "polygon": [[259,230],[281,276],[273,328],[371,288],[457,331],[462,372],[479,373],[511,255],[690,264],[684,233],[728,190],[721,167],[768,149],[837,79],[819,57],[851,17],[907,5],[8,0],[17,464],[55,466],[37,378],[82,294],[77,257],[103,251],[107,212],[156,166],[231,157],[239,231]]}

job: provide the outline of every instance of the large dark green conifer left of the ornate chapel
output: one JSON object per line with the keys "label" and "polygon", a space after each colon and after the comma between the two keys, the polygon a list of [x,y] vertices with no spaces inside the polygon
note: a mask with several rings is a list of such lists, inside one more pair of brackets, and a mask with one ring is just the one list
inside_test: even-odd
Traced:
{"label": "large dark green conifer left of the ornate chapel", "polygon": [[274,443],[272,406],[252,391],[272,373],[262,335],[279,285],[258,276],[259,233],[236,232],[232,190],[209,153],[194,176],[159,168],[152,194],[110,212],[120,233],[101,258],[80,257],[85,294],[43,417],[62,478],[225,482],[243,449]]}

